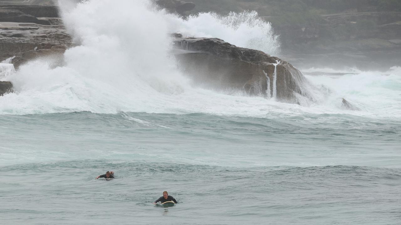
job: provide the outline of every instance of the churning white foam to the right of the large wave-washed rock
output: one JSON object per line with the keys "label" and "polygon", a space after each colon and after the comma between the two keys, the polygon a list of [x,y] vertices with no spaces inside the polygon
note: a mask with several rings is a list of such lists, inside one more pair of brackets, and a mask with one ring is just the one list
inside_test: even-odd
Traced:
{"label": "churning white foam to the right of the large wave-washed rock", "polygon": [[[332,68],[312,68],[306,71],[313,71],[318,75],[306,75],[313,85],[320,88],[322,95],[319,105],[315,107],[340,108],[342,98],[345,98],[362,110],[356,112],[357,114],[374,113],[386,117],[399,117],[401,113],[399,66],[394,66],[385,72]],[[326,75],[319,75],[319,71]]]}

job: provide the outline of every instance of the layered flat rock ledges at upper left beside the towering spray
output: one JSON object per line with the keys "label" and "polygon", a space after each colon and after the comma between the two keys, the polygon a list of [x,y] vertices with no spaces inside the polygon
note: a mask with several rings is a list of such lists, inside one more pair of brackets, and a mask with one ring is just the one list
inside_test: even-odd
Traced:
{"label": "layered flat rock ledges at upper left beside the towering spray", "polygon": [[60,53],[55,46],[71,46],[58,14],[55,6],[0,6],[0,20],[6,20],[0,22],[0,61],[16,56],[12,63],[18,68],[33,56]]}

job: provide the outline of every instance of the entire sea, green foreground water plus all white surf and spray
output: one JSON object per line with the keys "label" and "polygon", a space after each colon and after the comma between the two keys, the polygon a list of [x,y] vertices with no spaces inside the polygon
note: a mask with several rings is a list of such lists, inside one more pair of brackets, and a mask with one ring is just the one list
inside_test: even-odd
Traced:
{"label": "entire sea, green foreground water plus all white surf and spray", "polygon": [[172,32],[279,54],[254,12],[60,7],[65,65],[0,64],[1,224],[400,224],[400,66],[299,68],[315,101],[286,104],[199,87],[170,54]]}

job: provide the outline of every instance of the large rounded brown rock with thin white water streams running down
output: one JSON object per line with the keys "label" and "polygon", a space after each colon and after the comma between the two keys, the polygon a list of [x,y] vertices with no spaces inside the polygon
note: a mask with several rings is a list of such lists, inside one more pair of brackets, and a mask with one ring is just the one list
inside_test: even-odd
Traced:
{"label": "large rounded brown rock with thin white water streams running down", "polygon": [[302,99],[313,100],[302,73],[277,57],[218,38],[174,38],[174,45],[184,50],[176,52],[180,69],[200,85],[243,90],[280,102],[302,104]]}

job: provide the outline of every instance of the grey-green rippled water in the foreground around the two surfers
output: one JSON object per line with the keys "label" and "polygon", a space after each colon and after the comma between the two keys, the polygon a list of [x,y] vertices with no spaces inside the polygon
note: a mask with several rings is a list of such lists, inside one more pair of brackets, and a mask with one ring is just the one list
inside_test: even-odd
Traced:
{"label": "grey-green rippled water in the foreground around the two surfers", "polygon": [[[326,121],[326,123],[324,123]],[[2,115],[5,224],[397,224],[400,121]],[[105,171],[115,179],[96,180]],[[178,204],[152,202],[163,191]]]}

